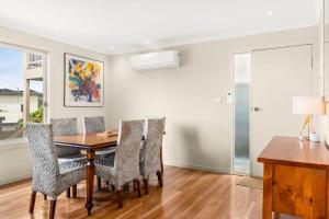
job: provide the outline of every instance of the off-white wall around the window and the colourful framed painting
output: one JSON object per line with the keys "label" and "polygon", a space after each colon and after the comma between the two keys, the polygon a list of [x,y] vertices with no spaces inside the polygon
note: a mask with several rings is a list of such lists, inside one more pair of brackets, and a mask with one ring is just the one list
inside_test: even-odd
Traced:
{"label": "off-white wall around the window and the colourful framed painting", "polygon": [[[105,115],[106,100],[105,107],[64,107],[64,53],[105,62],[105,96],[109,93],[109,56],[3,27],[0,27],[0,43],[48,53],[48,118],[68,116],[80,118],[82,116]],[[79,128],[81,130],[81,123],[79,123]],[[0,142],[0,184],[23,178],[27,175],[31,175],[31,160],[26,141]]]}

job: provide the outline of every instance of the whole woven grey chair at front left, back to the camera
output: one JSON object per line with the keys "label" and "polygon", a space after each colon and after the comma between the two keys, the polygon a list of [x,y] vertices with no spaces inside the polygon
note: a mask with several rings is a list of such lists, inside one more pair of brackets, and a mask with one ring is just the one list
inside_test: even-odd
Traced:
{"label": "whole woven grey chair at front left, back to the camera", "polygon": [[56,199],[70,186],[86,180],[84,164],[58,163],[52,125],[26,124],[26,136],[32,155],[33,180],[30,212],[34,211],[36,192],[50,197],[49,218],[55,217]]}

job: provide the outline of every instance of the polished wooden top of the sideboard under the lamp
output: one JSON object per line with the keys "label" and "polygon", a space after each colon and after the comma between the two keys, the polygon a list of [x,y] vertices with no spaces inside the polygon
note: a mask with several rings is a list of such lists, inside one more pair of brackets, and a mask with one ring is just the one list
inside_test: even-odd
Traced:
{"label": "polished wooden top of the sideboard under the lamp", "polygon": [[258,162],[329,169],[329,150],[324,142],[275,136],[258,157]]}

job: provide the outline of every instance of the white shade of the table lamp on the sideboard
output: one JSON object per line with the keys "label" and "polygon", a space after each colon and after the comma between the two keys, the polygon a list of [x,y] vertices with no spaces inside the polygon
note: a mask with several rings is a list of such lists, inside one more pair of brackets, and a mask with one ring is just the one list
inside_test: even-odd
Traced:
{"label": "white shade of the table lamp on the sideboard", "polygon": [[322,115],[325,114],[325,101],[321,96],[294,96],[293,114]]}

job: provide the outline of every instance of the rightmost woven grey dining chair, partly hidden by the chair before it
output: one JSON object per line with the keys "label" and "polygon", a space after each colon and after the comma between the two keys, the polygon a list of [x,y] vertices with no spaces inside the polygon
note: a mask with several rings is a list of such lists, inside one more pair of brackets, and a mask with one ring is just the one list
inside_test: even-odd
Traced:
{"label": "rightmost woven grey dining chair, partly hidden by the chair before it", "polygon": [[145,194],[148,194],[148,178],[150,174],[158,175],[162,187],[160,150],[164,132],[166,117],[152,118],[146,122],[146,136],[140,150],[140,175],[143,176]]}

